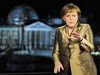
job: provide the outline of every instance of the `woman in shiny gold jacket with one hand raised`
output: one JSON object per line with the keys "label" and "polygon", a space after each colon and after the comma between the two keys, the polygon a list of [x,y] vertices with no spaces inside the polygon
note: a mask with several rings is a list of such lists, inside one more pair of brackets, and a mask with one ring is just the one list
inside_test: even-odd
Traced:
{"label": "woman in shiny gold jacket with one hand raised", "polygon": [[[54,73],[68,75],[97,75],[91,55],[94,50],[93,33],[89,24],[80,24],[81,11],[73,3],[61,10],[65,25],[58,27],[53,51]],[[70,65],[69,65],[70,64]]]}

